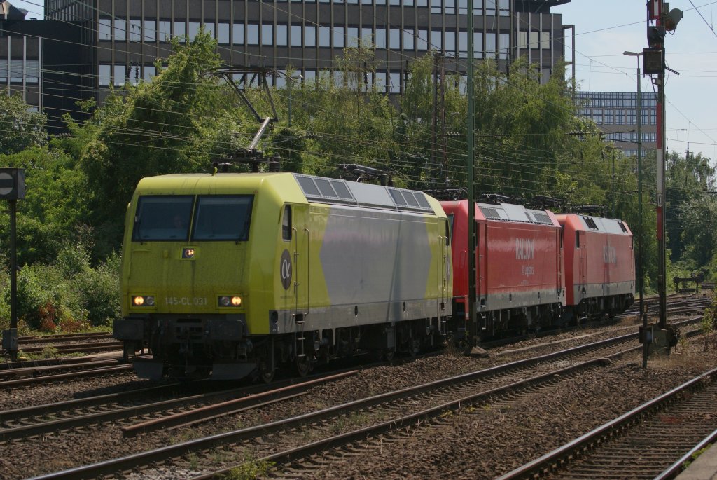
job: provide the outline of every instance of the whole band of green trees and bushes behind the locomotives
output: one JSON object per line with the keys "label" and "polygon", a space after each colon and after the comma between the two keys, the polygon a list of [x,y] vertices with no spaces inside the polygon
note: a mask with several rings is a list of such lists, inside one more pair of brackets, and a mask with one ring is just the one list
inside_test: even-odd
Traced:
{"label": "whole band of green trees and bushes behind the locomotives", "polygon": [[[67,118],[69,135],[49,142],[43,116],[29,113],[17,97],[0,96],[0,163],[26,169],[27,178],[18,216],[24,324],[72,329],[106,325],[118,316],[118,250],[138,180],[209,171],[250,143],[259,123],[231,86],[212,74],[220,67],[216,47],[204,32],[192,42],[175,40],[174,55],[166,66],[156,65],[152,82],[111,90],[102,105],[80,105],[93,109],[91,118]],[[363,164],[406,187],[465,188],[465,83],[438,74],[440,62],[435,55],[414,60],[397,99],[371,81],[378,74],[374,50],[366,45],[346,50],[336,71],[316,79],[279,74],[285,86],[272,89],[271,99],[247,85],[244,93],[261,118],[277,110],[278,121],[260,149],[280,156],[285,171],[351,178],[341,165]],[[491,61],[477,65],[476,191],[518,202],[551,197],[554,210],[599,205],[603,215],[626,220],[637,235],[642,226],[648,285],[654,288],[654,156],[643,164],[640,216],[635,159],[602,141],[594,123],[576,115],[580,105],[574,105],[571,88],[559,75],[541,79],[524,59],[507,72]],[[717,267],[714,174],[702,156],[669,156],[670,258],[683,270]],[[0,216],[0,235],[6,252],[6,216]],[[8,279],[5,269],[0,326],[9,318]]]}

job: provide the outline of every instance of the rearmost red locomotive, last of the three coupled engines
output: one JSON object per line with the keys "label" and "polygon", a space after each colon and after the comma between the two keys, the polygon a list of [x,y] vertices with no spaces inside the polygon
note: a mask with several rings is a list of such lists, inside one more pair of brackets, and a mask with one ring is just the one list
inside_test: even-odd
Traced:
{"label": "rearmost red locomotive, last of the three coupled engines", "polygon": [[556,215],[563,228],[566,320],[610,318],[635,301],[632,232],[621,220]]}

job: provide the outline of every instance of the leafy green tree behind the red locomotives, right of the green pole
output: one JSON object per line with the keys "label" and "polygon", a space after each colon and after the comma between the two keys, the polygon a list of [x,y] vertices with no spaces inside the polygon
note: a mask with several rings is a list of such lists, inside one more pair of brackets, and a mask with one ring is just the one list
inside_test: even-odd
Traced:
{"label": "leafy green tree behind the red locomotives, right of the green pole", "polygon": [[[521,58],[507,73],[491,60],[481,62],[475,78],[480,190],[511,197],[547,194],[580,203],[602,197],[594,191],[596,177],[584,174],[586,164],[593,174],[604,170],[602,142],[591,122],[576,117],[560,75],[543,81],[536,67]],[[597,188],[602,192],[602,186]]]}

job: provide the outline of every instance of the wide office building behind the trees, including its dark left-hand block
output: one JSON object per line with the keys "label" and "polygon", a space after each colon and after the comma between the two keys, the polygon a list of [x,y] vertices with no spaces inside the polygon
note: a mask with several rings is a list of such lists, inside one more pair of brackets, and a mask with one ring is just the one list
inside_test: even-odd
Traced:
{"label": "wide office building behind the trees, including its dark left-hand block", "polygon": [[[547,79],[569,28],[550,9],[569,1],[474,0],[475,58],[505,70],[526,56]],[[78,100],[101,102],[110,85],[151,81],[170,39],[193,38],[202,25],[227,66],[292,69],[304,82],[321,72],[341,81],[336,58],[359,42],[376,54],[367,80],[387,93],[402,93],[410,60],[429,52],[443,71],[466,72],[467,0],[45,0],[45,20],[26,19],[6,0],[2,7],[0,85],[48,113],[50,131],[62,113],[82,118]]]}

